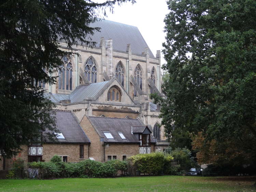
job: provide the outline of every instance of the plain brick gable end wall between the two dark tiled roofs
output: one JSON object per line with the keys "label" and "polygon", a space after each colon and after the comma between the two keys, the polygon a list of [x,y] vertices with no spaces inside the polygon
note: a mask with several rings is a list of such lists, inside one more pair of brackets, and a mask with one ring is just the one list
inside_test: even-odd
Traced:
{"label": "plain brick gable end wall between the two dark tiled roofs", "polygon": [[86,116],[83,117],[80,126],[91,142],[89,147],[89,157],[93,157],[96,161],[103,162],[103,146],[102,142],[100,142],[100,136]]}

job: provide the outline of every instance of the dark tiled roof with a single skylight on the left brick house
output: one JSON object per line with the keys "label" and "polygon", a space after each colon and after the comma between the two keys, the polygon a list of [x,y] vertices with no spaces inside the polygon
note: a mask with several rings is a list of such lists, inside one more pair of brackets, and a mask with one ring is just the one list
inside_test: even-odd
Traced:
{"label": "dark tiled roof with a single skylight on the left brick house", "polygon": [[[65,139],[57,139],[61,143],[90,143],[88,137],[70,111],[55,111],[56,127]],[[49,140],[46,140],[50,142]]]}

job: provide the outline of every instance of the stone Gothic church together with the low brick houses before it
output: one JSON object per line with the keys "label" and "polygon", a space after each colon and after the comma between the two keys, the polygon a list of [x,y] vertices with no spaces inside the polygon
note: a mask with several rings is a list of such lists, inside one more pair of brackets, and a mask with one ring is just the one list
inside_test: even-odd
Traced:
{"label": "stone Gothic church together with the low brick houses before it", "polygon": [[[154,55],[137,27],[109,20],[91,26],[101,28],[90,36],[96,46],[73,47],[79,56],[62,58],[52,74],[57,84],[39,85],[56,104],[59,142],[24,146],[18,157],[25,162],[49,161],[54,154],[66,162],[125,160],[168,146],[159,106],[149,98],[163,96],[160,50]],[[59,47],[71,51],[65,42]],[[10,164],[1,161],[0,170]]]}

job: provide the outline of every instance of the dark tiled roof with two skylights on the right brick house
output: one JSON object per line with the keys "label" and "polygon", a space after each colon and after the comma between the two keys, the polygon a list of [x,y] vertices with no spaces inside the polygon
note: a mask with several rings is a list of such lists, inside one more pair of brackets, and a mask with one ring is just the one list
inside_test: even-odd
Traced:
{"label": "dark tiled roof with two skylights on the right brick house", "polygon": [[[131,133],[131,126],[143,125],[138,119],[110,118],[110,117],[88,117],[97,129],[104,142],[113,143],[139,143],[139,140]],[[107,139],[103,132],[110,132],[114,139]],[[122,132],[126,139],[122,139],[118,132]]]}

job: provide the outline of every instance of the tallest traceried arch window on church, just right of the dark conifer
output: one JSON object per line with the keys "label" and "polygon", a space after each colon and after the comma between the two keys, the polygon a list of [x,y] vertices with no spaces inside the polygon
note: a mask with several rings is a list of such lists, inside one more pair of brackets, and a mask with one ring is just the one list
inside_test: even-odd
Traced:
{"label": "tallest traceried arch window on church, just right of the dark conifer", "polygon": [[62,58],[62,65],[59,66],[58,86],[62,90],[72,90],[72,72],[73,66],[70,58],[64,56]]}

